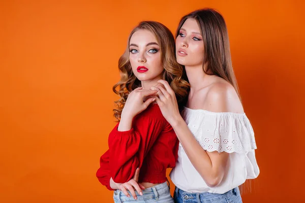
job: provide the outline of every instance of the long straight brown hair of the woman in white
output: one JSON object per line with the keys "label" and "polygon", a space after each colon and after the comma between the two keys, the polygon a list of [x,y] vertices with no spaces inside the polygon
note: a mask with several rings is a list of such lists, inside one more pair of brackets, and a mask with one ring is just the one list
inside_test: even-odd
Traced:
{"label": "long straight brown hair of the woman in white", "polygon": [[203,64],[206,64],[204,73],[216,75],[228,81],[237,92],[239,89],[234,75],[228,30],[223,16],[214,9],[201,9],[193,11],[181,18],[176,31],[176,38],[180,33],[180,28],[188,18],[197,21],[202,41],[204,43]]}

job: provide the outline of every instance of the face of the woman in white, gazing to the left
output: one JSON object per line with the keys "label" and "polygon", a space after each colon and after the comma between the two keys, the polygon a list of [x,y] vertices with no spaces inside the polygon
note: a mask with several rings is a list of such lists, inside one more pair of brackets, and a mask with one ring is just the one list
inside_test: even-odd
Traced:
{"label": "face of the woman in white, gazing to the left", "polygon": [[177,62],[185,66],[203,65],[204,44],[200,27],[193,18],[188,18],[179,30],[176,39]]}

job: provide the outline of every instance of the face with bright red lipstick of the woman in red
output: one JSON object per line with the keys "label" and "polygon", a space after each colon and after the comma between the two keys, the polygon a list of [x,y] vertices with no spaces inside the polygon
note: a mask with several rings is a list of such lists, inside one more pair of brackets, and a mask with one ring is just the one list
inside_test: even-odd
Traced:
{"label": "face with bright red lipstick of the woman in red", "polygon": [[162,79],[163,64],[160,45],[153,33],[140,29],[133,33],[129,43],[132,71],[140,81]]}

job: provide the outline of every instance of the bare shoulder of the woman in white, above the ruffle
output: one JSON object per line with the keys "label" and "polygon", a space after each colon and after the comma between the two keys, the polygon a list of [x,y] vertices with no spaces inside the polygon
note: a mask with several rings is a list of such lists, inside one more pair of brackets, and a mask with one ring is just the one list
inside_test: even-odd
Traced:
{"label": "bare shoulder of the woman in white, above the ruffle", "polygon": [[205,109],[211,112],[243,113],[241,101],[234,87],[221,78],[211,84],[206,94]]}

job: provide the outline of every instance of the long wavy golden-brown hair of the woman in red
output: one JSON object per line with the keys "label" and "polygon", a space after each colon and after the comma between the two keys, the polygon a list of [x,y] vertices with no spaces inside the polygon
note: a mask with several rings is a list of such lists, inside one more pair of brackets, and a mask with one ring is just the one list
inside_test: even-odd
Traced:
{"label": "long wavy golden-brown hair of the woman in red", "polygon": [[179,106],[183,105],[182,103],[185,102],[190,87],[182,65],[176,61],[175,40],[171,31],[159,22],[142,21],[131,31],[125,53],[118,60],[120,80],[112,88],[113,92],[120,96],[120,98],[115,101],[116,107],[113,109],[114,117],[118,121],[120,120],[121,112],[125,106],[129,93],[135,88],[141,87],[141,81],[134,75],[129,61],[130,39],[133,33],[140,29],[148,30],[155,35],[161,50],[162,64],[164,67],[163,80],[166,80],[175,92]]}

